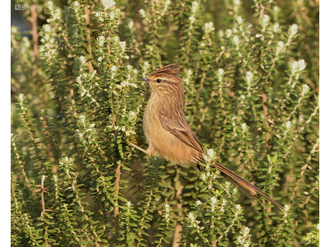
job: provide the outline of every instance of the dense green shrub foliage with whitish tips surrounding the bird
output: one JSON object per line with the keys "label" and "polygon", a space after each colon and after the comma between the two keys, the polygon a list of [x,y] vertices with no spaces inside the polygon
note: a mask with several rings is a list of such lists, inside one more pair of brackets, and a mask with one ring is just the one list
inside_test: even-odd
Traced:
{"label": "dense green shrub foliage with whitish tips surrounding the bird", "polygon": [[[318,0],[14,2],[12,246],[319,245]],[[206,173],[127,145],[169,63]]]}

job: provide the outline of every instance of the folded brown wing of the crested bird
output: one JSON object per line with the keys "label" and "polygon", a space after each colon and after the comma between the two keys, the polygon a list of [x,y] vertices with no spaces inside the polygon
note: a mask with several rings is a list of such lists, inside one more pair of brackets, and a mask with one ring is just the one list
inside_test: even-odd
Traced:
{"label": "folded brown wing of the crested bird", "polygon": [[166,130],[170,131],[182,142],[193,149],[204,153],[202,145],[185,119],[183,110],[179,113],[176,112],[175,116],[172,114],[166,114],[165,111],[160,110],[158,111],[158,120]]}

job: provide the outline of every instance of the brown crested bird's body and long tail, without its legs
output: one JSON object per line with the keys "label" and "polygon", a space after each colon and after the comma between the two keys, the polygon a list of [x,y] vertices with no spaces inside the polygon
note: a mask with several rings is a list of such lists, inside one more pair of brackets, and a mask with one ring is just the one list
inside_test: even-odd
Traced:
{"label": "brown crested bird's body and long tail, without its legs", "polygon": [[[143,116],[143,131],[149,145],[146,153],[150,156],[161,156],[174,164],[190,165],[196,169],[198,162],[204,163],[204,151],[186,121],[182,108],[184,88],[182,79],[176,75],[178,73],[181,73],[181,67],[170,64],[158,69],[148,78],[140,79],[148,82],[151,90]],[[259,193],[285,211],[260,188],[223,165],[214,162],[213,166],[250,199],[261,203],[255,197]]]}

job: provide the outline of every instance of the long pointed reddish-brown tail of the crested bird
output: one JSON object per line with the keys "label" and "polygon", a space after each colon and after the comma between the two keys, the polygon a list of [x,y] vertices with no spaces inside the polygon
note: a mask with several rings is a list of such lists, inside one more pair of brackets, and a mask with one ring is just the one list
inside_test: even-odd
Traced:
{"label": "long pointed reddish-brown tail of the crested bird", "polygon": [[[265,197],[268,201],[272,202],[274,205],[278,206],[279,208],[281,208],[284,212],[286,212],[284,210],[284,208],[278,204],[277,202],[275,202],[272,198],[270,198],[269,196],[267,196],[260,188],[258,188],[257,186],[249,183],[247,180],[245,180],[244,178],[242,178],[241,176],[237,175],[236,173],[234,173],[233,171],[227,169],[226,167],[224,167],[223,165],[220,165],[219,163],[213,162],[213,166],[217,169],[219,169],[221,171],[221,175],[226,178],[228,181],[230,181],[233,185],[235,185],[239,190],[241,190],[245,195],[247,195],[251,200],[255,200],[257,202],[259,202],[262,206],[264,206],[262,204],[262,202],[260,202],[260,200],[258,198],[256,198],[257,196],[257,192],[262,195],[263,197]],[[288,214],[288,212],[286,212]]]}

